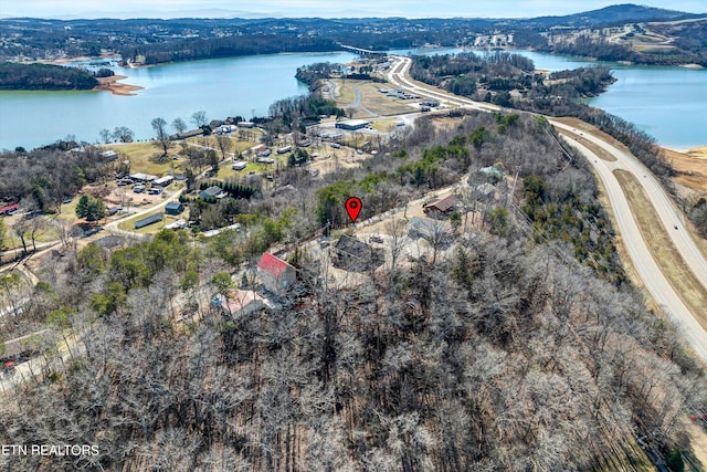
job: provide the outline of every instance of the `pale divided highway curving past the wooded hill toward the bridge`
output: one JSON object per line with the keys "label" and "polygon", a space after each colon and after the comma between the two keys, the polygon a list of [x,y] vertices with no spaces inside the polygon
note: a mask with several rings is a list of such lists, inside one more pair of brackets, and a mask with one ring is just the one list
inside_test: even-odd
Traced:
{"label": "pale divided highway curving past the wooded hill toward the bridge", "polygon": [[[490,104],[474,102],[461,96],[451,96],[451,94],[437,91],[430,85],[415,83],[415,81],[409,77],[412,60],[402,56],[392,57],[395,63],[388,72],[387,78],[400,88],[408,90],[421,96],[436,98],[442,105],[451,107],[464,107],[483,112],[498,112],[502,109]],[[655,208],[663,229],[669,235],[687,268],[693,272],[703,287],[707,289],[707,260],[705,260],[705,255],[697,248],[697,244],[688,232],[685,225],[685,217],[663,189],[655,176],[633,155],[589,133],[578,132],[571,126],[552,119],[552,117],[546,116],[546,118],[551,125],[560,129],[566,136],[566,140],[577,148],[593,166],[606,189],[611,209],[619,227],[618,231],[623,239],[629,258],[647,292],[680,327],[685,338],[696,354],[704,361],[707,361],[707,332],[705,332],[696,318],[696,316],[704,314],[692,313],[666,279],[659,262],[656,261],[643,239],[631,211],[631,207],[629,206],[629,201],[613,171],[616,169],[625,170],[639,180]],[[601,159],[587,146],[583,146],[577,139],[572,138],[572,135],[577,136],[578,134],[583,139],[588,139],[593,145],[611,154],[616,160],[609,161]]]}

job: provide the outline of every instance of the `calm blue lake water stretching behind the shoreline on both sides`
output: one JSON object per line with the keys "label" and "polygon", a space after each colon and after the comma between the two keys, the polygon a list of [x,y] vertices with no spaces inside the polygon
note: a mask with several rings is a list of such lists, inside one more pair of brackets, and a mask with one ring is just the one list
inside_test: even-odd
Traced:
{"label": "calm blue lake water stretching behind the shoreline on both sides", "polygon": [[[414,50],[434,54],[456,49]],[[407,53],[408,50],[395,51]],[[549,71],[594,64],[577,57],[518,51],[536,67]],[[0,92],[0,149],[33,148],[66,135],[95,143],[101,128],[127,126],[136,139],[149,139],[150,122],[187,123],[203,109],[210,118],[263,116],[279,99],[307,93],[295,78],[298,66],[315,62],[350,62],[346,52],[271,54],[180,62],[125,70],[125,83],[145,90],[136,96],[108,92]],[[707,71],[684,67],[626,66],[603,63],[619,78],[590,104],[619,115],[655,136],[664,146],[689,148],[707,144]]]}

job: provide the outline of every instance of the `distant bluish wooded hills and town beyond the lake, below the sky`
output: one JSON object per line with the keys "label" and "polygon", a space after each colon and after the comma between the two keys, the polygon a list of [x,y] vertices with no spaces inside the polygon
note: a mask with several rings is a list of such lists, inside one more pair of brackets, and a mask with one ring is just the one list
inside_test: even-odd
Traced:
{"label": "distant bluish wooded hills and town beyond the lake, below the sky", "polygon": [[[518,19],[177,19],[177,20],[0,20],[0,60],[55,59],[102,53],[156,64],[243,54],[318,52],[349,44],[390,50],[435,44],[473,46],[479,36],[511,34],[513,46],[613,61],[705,63],[704,23],[669,23],[698,15],[634,4],[567,17]],[[650,52],[631,42],[608,42],[603,29],[651,28],[669,39],[667,51]],[[640,24],[639,24],[640,23]],[[558,29],[558,27],[560,27]],[[633,35],[633,34],[630,34]],[[496,46],[497,44],[489,44]]]}

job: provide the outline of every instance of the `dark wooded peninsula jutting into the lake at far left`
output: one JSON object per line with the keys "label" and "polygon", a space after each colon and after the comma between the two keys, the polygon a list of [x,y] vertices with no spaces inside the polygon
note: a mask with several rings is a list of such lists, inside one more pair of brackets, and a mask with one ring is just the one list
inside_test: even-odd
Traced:
{"label": "dark wooded peninsula jutting into the lake at far left", "polygon": [[0,63],[0,88],[4,90],[91,90],[96,85],[94,74],[77,67]]}

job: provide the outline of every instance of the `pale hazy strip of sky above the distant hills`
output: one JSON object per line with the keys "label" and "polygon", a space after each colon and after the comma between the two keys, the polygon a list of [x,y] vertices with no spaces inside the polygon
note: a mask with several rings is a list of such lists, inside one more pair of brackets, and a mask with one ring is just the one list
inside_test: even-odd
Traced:
{"label": "pale hazy strip of sky above the distant hills", "polygon": [[704,0],[0,0],[0,17],[530,18],[571,14],[630,2],[690,13],[707,12]]}

